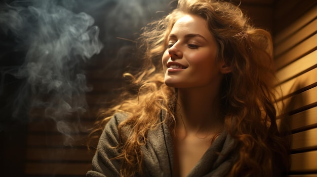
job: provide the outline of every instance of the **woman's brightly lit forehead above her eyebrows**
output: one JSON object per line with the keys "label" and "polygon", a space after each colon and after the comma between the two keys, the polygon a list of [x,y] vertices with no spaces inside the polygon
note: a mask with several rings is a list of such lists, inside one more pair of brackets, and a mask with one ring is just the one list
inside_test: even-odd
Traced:
{"label": "woman's brightly lit forehead above her eyebrows", "polygon": [[175,22],[171,34],[176,33],[196,33],[206,38],[213,38],[207,27],[206,20],[199,16],[189,14],[182,16]]}

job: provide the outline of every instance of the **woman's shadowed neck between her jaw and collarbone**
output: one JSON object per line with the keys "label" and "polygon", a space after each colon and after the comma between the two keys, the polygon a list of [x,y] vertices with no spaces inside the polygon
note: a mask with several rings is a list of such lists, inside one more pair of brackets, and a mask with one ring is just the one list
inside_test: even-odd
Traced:
{"label": "woman's shadowed neck between her jaw and collarbone", "polygon": [[178,89],[177,126],[186,132],[210,132],[223,127],[218,90]]}

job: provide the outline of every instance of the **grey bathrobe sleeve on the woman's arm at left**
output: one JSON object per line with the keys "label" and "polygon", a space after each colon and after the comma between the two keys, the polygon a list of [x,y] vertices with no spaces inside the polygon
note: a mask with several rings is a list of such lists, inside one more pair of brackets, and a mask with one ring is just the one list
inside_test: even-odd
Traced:
{"label": "grey bathrobe sleeve on the woman's arm at left", "polygon": [[126,119],[123,113],[116,113],[106,124],[100,136],[97,151],[92,160],[92,170],[88,171],[87,177],[114,177],[120,176],[121,160],[110,160],[120,153],[113,148],[118,145],[119,135],[117,125]]}

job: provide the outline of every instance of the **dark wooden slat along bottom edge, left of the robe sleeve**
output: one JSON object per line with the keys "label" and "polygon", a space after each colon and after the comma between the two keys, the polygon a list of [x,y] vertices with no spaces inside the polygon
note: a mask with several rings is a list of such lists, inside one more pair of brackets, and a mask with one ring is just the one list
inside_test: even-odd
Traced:
{"label": "dark wooden slat along bottom edge, left of the robe sleeve", "polygon": [[76,175],[86,176],[91,163],[27,163],[25,174],[28,175]]}

